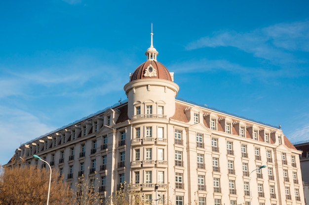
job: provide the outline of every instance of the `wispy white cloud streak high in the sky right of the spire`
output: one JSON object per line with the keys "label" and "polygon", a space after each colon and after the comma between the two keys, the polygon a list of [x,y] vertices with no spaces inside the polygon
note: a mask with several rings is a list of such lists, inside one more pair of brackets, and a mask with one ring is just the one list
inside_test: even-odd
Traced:
{"label": "wispy white cloud streak high in the sky right of the spire", "polygon": [[296,59],[292,52],[309,51],[309,21],[276,24],[242,33],[218,31],[189,43],[186,49],[229,46],[275,64],[307,62],[307,59]]}

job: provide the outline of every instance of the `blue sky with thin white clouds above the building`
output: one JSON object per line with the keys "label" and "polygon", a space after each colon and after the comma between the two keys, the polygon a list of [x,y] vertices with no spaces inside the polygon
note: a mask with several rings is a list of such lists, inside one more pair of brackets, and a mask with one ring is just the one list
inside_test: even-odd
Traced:
{"label": "blue sky with thin white clouds above the building", "polygon": [[151,23],[177,97],[309,140],[308,9],[306,0],[1,1],[0,164],[125,100]]}

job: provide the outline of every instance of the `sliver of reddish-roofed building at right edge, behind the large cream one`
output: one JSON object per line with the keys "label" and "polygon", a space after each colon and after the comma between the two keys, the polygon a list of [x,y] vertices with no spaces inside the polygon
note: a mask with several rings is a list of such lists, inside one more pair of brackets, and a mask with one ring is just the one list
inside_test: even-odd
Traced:
{"label": "sliver of reddish-roofed building at right edge, behind the large cream one", "polygon": [[298,150],[303,153],[300,154],[300,163],[302,168],[302,176],[303,176],[303,186],[304,186],[304,196],[305,196],[305,204],[309,204],[309,142],[302,142],[294,145]]}

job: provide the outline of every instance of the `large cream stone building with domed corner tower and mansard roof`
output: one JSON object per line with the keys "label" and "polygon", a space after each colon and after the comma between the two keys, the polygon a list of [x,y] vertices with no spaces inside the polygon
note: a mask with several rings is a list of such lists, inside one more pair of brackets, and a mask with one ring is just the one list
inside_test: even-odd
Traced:
{"label": "large cream stone building with domed corner tower and mansard roof", "polygon": [[7,166],[42,166],[36,154],[71,184],[98,178],[106,199],[126,181],[153,204],[305,205],[301,151],[282,130],[176,99],[157,55],[151,33],[126,102],[23,144]]}

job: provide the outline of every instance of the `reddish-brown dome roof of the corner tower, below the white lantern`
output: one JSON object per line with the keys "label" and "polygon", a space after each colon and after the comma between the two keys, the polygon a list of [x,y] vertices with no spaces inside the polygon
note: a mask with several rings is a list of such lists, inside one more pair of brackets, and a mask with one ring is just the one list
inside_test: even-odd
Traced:
{"label": "reddish-brown dome roof of the corner tower, below the white lantern", "polygon": [[132,74],[130,81],[149,78],[172,81],[167,68],[156,60],[146,60],[140,64]]}

